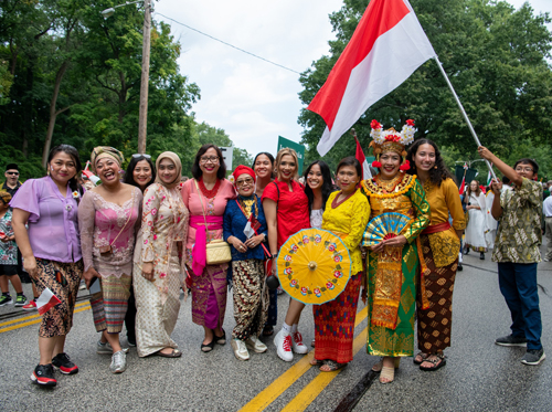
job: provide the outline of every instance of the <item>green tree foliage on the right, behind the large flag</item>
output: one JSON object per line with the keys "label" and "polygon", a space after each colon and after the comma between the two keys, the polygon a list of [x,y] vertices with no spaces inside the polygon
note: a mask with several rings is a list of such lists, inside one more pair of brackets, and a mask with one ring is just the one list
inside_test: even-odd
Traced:
{"label": "green tree foliage on the right, behind the large flag", "polygon": [[[326,82],[368,3],[344,0],[339,11],[330,14],[337,39],[329,42],[330,55],[314,62],[300,77],[305,105]],[[523,157],[532,157],[535,150],[546,152],[552,133],[552,72],[546,61],[552,34],[545,27],[551,21],[548,13],[534,15],[529,3],[514,10],[506,1],[490,0],[411,0],[411,4],[482,145],[505,159],[513,152]],[[445,145],[459,159],[477,157],[476,144],[434,61],[423,64],[361,116],[354,128],[363,147],[370,142],[373,118],[385,128],[397,129],[413,118],[418,129],[416,138],[427,137]],[[302,109],[299,124],[306,129],[302,142],[309,148],[307,158],[317,158],[323,120]],[[343,135],[326,160],[335,166],[342,157],[354,155],[353,141]],[[521,147],[519,141],[526,142],[522,146],[527,152],[512,151]],[[552,176],[550,161],[541,167]]]}

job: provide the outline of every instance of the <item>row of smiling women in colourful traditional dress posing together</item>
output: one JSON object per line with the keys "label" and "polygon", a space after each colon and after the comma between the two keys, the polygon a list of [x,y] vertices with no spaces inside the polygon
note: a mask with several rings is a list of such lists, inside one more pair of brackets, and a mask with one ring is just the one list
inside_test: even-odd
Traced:
{"label": "row of smiling women in colourful traditional dress posing together", "polygon": [[[421,139],[406,154],[412,130],[411,123],[401,133],[373,124],[375,178],[362,180],[360,163],[348,157],[338,165],[335,182],[328,165],[312,162],[305,184],[298,179],[297,154],[288,148],[276,159],[258,154],[253,168],[241,165],[233,171],[231,182],[221,150],[204,145],[194,159],[193,179],[180,183],[182,167],[173,152],[161,154],[155,166],[148,155],[134,155],[123,182],[123,154],[97,147],[91,166],[102,184],[83,191],[76,183],[82,170],[76,149],[54,148],[49,175],[26,181],[11,201],[24,267],[39,293],[60,300],[43,316],[32,380],[55,385],[53,367],[66,374],[78,371],[64,341],[81,277],[91,288],[94,325],[102,332],[96,350],[112,355],[114,373],[126,369],[119,342],[125,321],[128,341],[136,341],[140,357],[182,355],[171,339],[181,288],[191,290],[192,321],[203,327],[201,351],[226,342],[230,285],[235,357],[247,360],[250,350],[265,352],[259,337],[272,335],[277,324],[277,295],[266,279],[277,275],[275,257],[286,240],[309,228],[332,232],[351,256],[344,290],[312,307],[311,365],[327,372],[352,360],[362,297],[369,305],[368,352],[382,357],[372,368],[381,371],[382,383],[393,381],[401,357],[414,355],[416,314],[420,353],[414,362],[423,370],[440,368],[450,346],[464,213],[436,145]],[[368,242],[369,221],[389,212],[405,216],[404,230],[378,244]],[[231,262],[208,262],[209,246],[221,241],[230,245]],[[285,361],[294,352],[308,352],[299,331],[304,308],[289,299],[274,338]]]}

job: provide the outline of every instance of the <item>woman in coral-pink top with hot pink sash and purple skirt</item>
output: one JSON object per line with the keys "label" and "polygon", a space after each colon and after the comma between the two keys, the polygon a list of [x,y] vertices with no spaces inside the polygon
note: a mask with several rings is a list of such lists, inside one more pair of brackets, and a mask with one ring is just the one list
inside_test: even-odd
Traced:
{"label": "woman in coral-pink top with hot pink sash and purple skirt", "polygon": [[193,179],[182,187],[182,199],[190,210],[187,264],[191,272],[192,321],[203,326],[205,337],[201,350],[209,352],[215,344],[226,342],[222,324],[226,310],[229,264],[208,265],[205,247],[210,241],[222,239],[224,210],[226,202],[235,198],[235,191],[232,183],[224,179],[226,166],[221,149],[214,145],[200,148],[192,166],[192,176]]}

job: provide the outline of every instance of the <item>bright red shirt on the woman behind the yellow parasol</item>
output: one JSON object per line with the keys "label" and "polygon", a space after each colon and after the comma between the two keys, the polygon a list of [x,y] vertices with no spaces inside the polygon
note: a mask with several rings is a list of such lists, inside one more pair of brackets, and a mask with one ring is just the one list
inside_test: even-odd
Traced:
{"label": "bright red shirt on the woman behind the yellow parasol", "polygon": [[[278,190],[279,189],[279,199]],[[291,190],[287,183],[274,180],[263,191],[263,199],[272,199],[278,205],[277,224],[278,224],[278,249],[286,243],[287,239],[301,229],[310,228],[309,208],[307,194],[295,180],[291,181]]]}

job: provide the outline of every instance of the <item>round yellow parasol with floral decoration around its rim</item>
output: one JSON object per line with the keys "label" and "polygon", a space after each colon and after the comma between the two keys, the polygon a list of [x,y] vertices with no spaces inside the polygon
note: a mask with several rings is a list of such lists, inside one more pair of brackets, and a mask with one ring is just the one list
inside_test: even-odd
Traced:
{"label": "round yellow parasol with floral decoration around its rim", "polygon": [[349,250],[322,229],[305,229],[289,236],[276,262],[282,287],[304,304],[333,300],[351,277]]}

